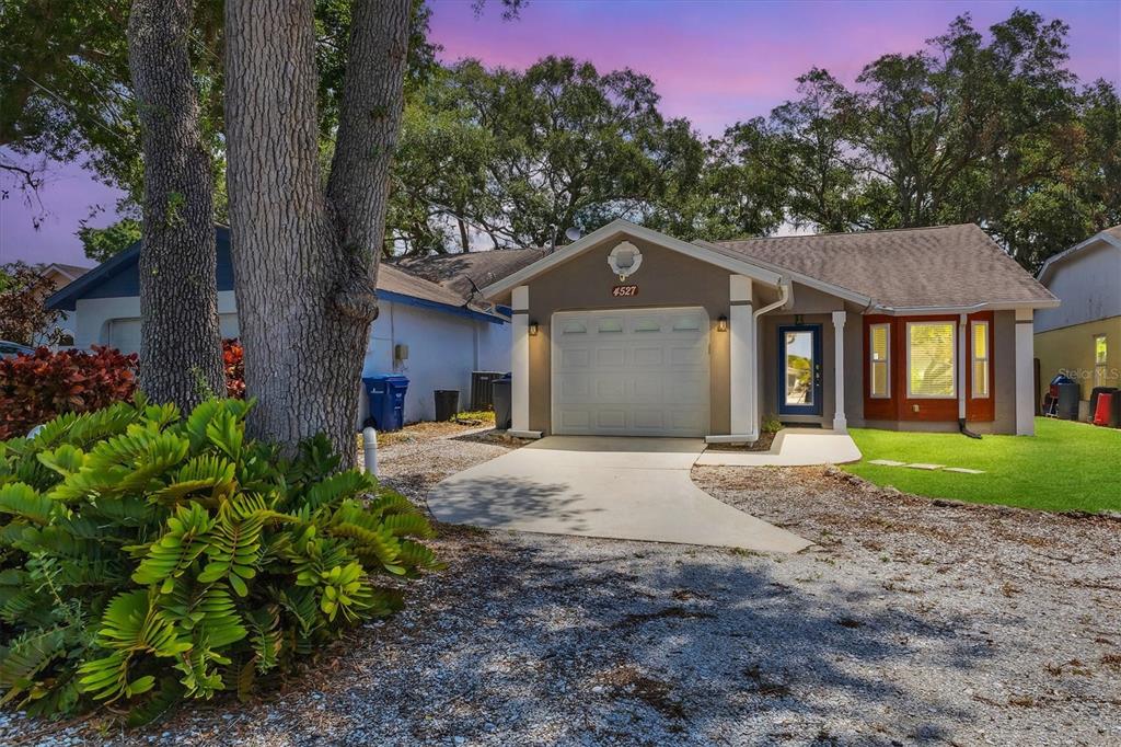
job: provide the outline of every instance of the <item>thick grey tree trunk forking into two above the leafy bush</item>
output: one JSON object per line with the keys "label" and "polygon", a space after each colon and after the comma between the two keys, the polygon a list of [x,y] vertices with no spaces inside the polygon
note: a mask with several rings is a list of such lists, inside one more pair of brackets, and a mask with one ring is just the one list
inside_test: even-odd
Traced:
{"label": "thick grey tree trunk forking into two above the leafy bush", "polygon": [[316,142],[312,0],[228,2],[226,170],[249,428],[354,453],[400,129],[410,2],[359,0],[331,175]]}

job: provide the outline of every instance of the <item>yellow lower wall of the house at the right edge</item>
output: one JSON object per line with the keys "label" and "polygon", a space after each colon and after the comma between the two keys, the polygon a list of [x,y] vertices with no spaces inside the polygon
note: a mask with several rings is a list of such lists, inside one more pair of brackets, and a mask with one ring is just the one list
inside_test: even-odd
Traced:
{"label": "yellow lower wall of the house at the right edge", "polygon": [[1094,388],[1094,338],[1105,335],[1108,387],[1121,387],[1121,316],[1036,334],[1039,382],[1046,387],[1060,371],[1082,386],[1082,398]]}

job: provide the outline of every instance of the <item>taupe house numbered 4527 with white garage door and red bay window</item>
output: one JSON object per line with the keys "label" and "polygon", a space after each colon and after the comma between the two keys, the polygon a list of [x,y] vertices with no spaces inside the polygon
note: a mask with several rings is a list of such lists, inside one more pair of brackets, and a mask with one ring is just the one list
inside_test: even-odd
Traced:
{"label": "taupe house numbered 4527 with white garage door and red bay window", "polygon": [[482,289],[518,435],[752,442],[765,417],[1034,432],[1036,310],[973,224],[687,242],[617,220]]}

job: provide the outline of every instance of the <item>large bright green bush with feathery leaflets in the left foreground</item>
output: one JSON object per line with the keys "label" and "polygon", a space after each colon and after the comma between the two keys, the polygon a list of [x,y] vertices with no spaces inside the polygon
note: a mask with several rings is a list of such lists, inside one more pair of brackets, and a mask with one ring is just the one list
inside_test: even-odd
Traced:
{"label": "large bright green bush with feathery leaflets in the left foreground", "polygon": [[136,725],[247,697],[438,568],[406,498],[325,439],[293,460],[247,440],[250,407],[137,397],[0,443],[0,701]]}

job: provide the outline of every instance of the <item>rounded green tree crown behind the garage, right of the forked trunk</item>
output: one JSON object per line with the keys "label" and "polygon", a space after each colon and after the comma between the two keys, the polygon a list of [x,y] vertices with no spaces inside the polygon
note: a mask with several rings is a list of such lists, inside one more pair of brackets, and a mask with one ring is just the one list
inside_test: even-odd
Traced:
{"label": "rounded green tree crown behind the garage, right of the forked trunk", "polygon": [[470,234],[549,247],[571,227],[655,211],[703,158],[658,100],[646,75],[571,57],[438,71],[406,109],[387,240],[409,253],[466,250]]}

